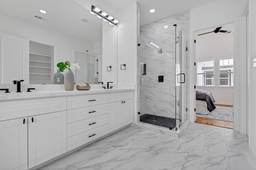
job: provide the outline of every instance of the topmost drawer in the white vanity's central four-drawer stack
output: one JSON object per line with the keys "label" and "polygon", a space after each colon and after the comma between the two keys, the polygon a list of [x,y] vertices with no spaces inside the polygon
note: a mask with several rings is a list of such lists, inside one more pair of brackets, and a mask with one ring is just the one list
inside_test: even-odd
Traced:
{"label": "topmost drawer in the white vanity's central four-drawer stack", "polygon": [[108,103],[108,94],[73,96],[67,98],[67,109],[76,109]]}

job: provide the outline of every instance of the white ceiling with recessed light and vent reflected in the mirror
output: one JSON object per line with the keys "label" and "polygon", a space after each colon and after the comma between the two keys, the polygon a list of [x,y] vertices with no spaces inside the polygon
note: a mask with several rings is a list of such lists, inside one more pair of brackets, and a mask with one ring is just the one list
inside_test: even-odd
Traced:
{"label": "white ceiling with recessed light and vent reflected in the mirror", "polygon": [[[42,14],[41,9],[47,13]],[[70,0],[0,0],[0,12],[82,40],[102,40],[102,20]]]}

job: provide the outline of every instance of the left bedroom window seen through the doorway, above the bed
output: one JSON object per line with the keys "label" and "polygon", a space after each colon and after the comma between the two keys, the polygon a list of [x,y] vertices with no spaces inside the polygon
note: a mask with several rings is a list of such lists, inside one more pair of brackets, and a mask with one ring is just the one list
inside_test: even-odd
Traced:
{"label": "left bedroom window seen through the doorway, above the bed", "polygon": [[214,60],[197,61],[197,86],[214,86]]}

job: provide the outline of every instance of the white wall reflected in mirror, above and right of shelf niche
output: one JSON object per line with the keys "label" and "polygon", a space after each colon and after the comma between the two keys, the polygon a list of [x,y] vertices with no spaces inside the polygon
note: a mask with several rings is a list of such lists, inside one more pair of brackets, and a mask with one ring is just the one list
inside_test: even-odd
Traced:
{"label": "white wall reflected in mirror, above and right of shelf niche", "polygon": [[67,60],[74,62],[73,49],[86,51],[93,48],[92,42],[86,42],[5,14],[1,14],[1,32],[58,46],[56,64]]}

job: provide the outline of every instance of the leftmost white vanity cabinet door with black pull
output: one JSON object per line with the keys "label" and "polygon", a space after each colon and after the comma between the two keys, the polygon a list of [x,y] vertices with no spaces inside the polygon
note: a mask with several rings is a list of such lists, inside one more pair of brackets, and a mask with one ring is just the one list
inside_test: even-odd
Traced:
{"label": "leftmost white vanity cabinet door with black pull", "polygon": [[27,117],[0,122],[0,169],[28,169]]}

